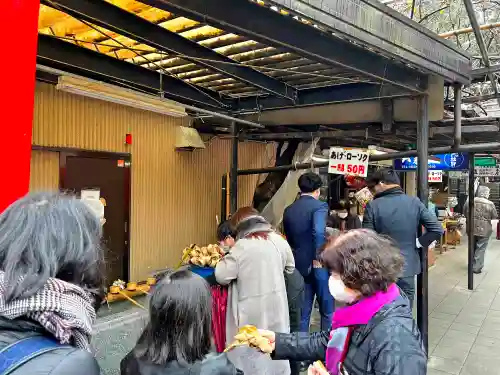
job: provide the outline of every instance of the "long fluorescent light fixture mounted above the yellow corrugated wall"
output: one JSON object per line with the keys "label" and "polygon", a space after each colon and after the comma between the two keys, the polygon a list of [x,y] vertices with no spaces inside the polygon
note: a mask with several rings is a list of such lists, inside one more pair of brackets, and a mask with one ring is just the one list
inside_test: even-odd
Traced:
{"label": "long fluorescent light fixture mounted above the yellow corrugated wall", "polygon": [[185,108],[174,101],[141,94],[103,82],[60,76],[56,88],[71,94],[87,96],[172,117],[187,116]]}

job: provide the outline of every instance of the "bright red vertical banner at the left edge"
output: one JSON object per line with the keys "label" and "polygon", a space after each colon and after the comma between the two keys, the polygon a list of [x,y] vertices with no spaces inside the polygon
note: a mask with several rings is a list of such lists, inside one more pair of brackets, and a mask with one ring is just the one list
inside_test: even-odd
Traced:
{"label": "bright red vertical banner at the left edge", "polygon": [[11,40],[0,59],[0,212],[28,192],[35,97],[39,0],[2,0],[0,35]]}

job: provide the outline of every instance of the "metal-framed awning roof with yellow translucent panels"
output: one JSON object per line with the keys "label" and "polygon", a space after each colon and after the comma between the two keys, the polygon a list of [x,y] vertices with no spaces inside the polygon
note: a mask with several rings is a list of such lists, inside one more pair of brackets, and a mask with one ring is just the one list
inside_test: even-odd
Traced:
{"label": "metal-framed awning roof with yellow translucent panels", "polygon": [[360,12],[332,0],[42,4],[39,64],[221,113],[413,97],[431,75],[470,79],[466,53],[376,0]]}

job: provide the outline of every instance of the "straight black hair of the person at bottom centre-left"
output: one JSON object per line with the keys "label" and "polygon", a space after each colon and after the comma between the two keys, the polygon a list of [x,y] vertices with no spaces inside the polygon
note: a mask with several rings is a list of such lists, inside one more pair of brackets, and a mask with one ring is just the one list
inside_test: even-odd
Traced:
{"label": "straight black hair of the person at bottom centre-left", "polygon": [[211,348],[212,299],[206,281],[181,268],[156,284],[149,303],[149,323],[135,356],[157,365],[202,360]]}

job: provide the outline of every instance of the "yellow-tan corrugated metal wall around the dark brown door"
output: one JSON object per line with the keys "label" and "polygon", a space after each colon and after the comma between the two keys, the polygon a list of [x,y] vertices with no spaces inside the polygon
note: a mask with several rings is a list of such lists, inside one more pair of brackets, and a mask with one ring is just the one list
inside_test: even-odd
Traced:
{"label": "yellow-tan corrugated metal wall around the dark brown door", "polygon": [[[57,91],[38,83],[33,144],[132,154],[131,278],[177,264],[184,246],[215,240],[221,176],[229,170],[230,141],[214,139],[205,150],[174,150],[175,126],[162,116]],[[130,133],[133,144],[124,144]],[[52,155],[50,155],[52,154]],[[242,143],[240,168],[267,166],[270,145]],[[31,187],[56,188],[57,153],[33,153]],[[251,202],[258,176],[239,180],[239,203]]]}

